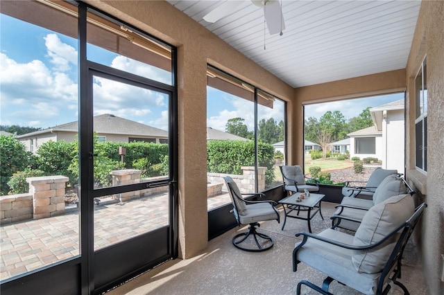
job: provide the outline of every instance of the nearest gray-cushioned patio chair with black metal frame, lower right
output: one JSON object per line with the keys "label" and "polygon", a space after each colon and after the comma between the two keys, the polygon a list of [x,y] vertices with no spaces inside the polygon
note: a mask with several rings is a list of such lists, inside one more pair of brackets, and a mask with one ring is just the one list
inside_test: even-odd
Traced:
{"label": "nearest gray-cushioned patio chair with black metal frame, lower right", "polygon": [[425,207],[423,203],[414,209],[409,195],[395,196],[370,208],[355,236],[334,229],[296,234],[302,242],[293,249],[293,271],[304,262],[327,275],[322,287],[301,280],[296,294],[301,294],[302,285],[332,294],[328,289],[334,280],[364,294],[386,294],[391,283],[409,294],[398,281],[402,253]]}

